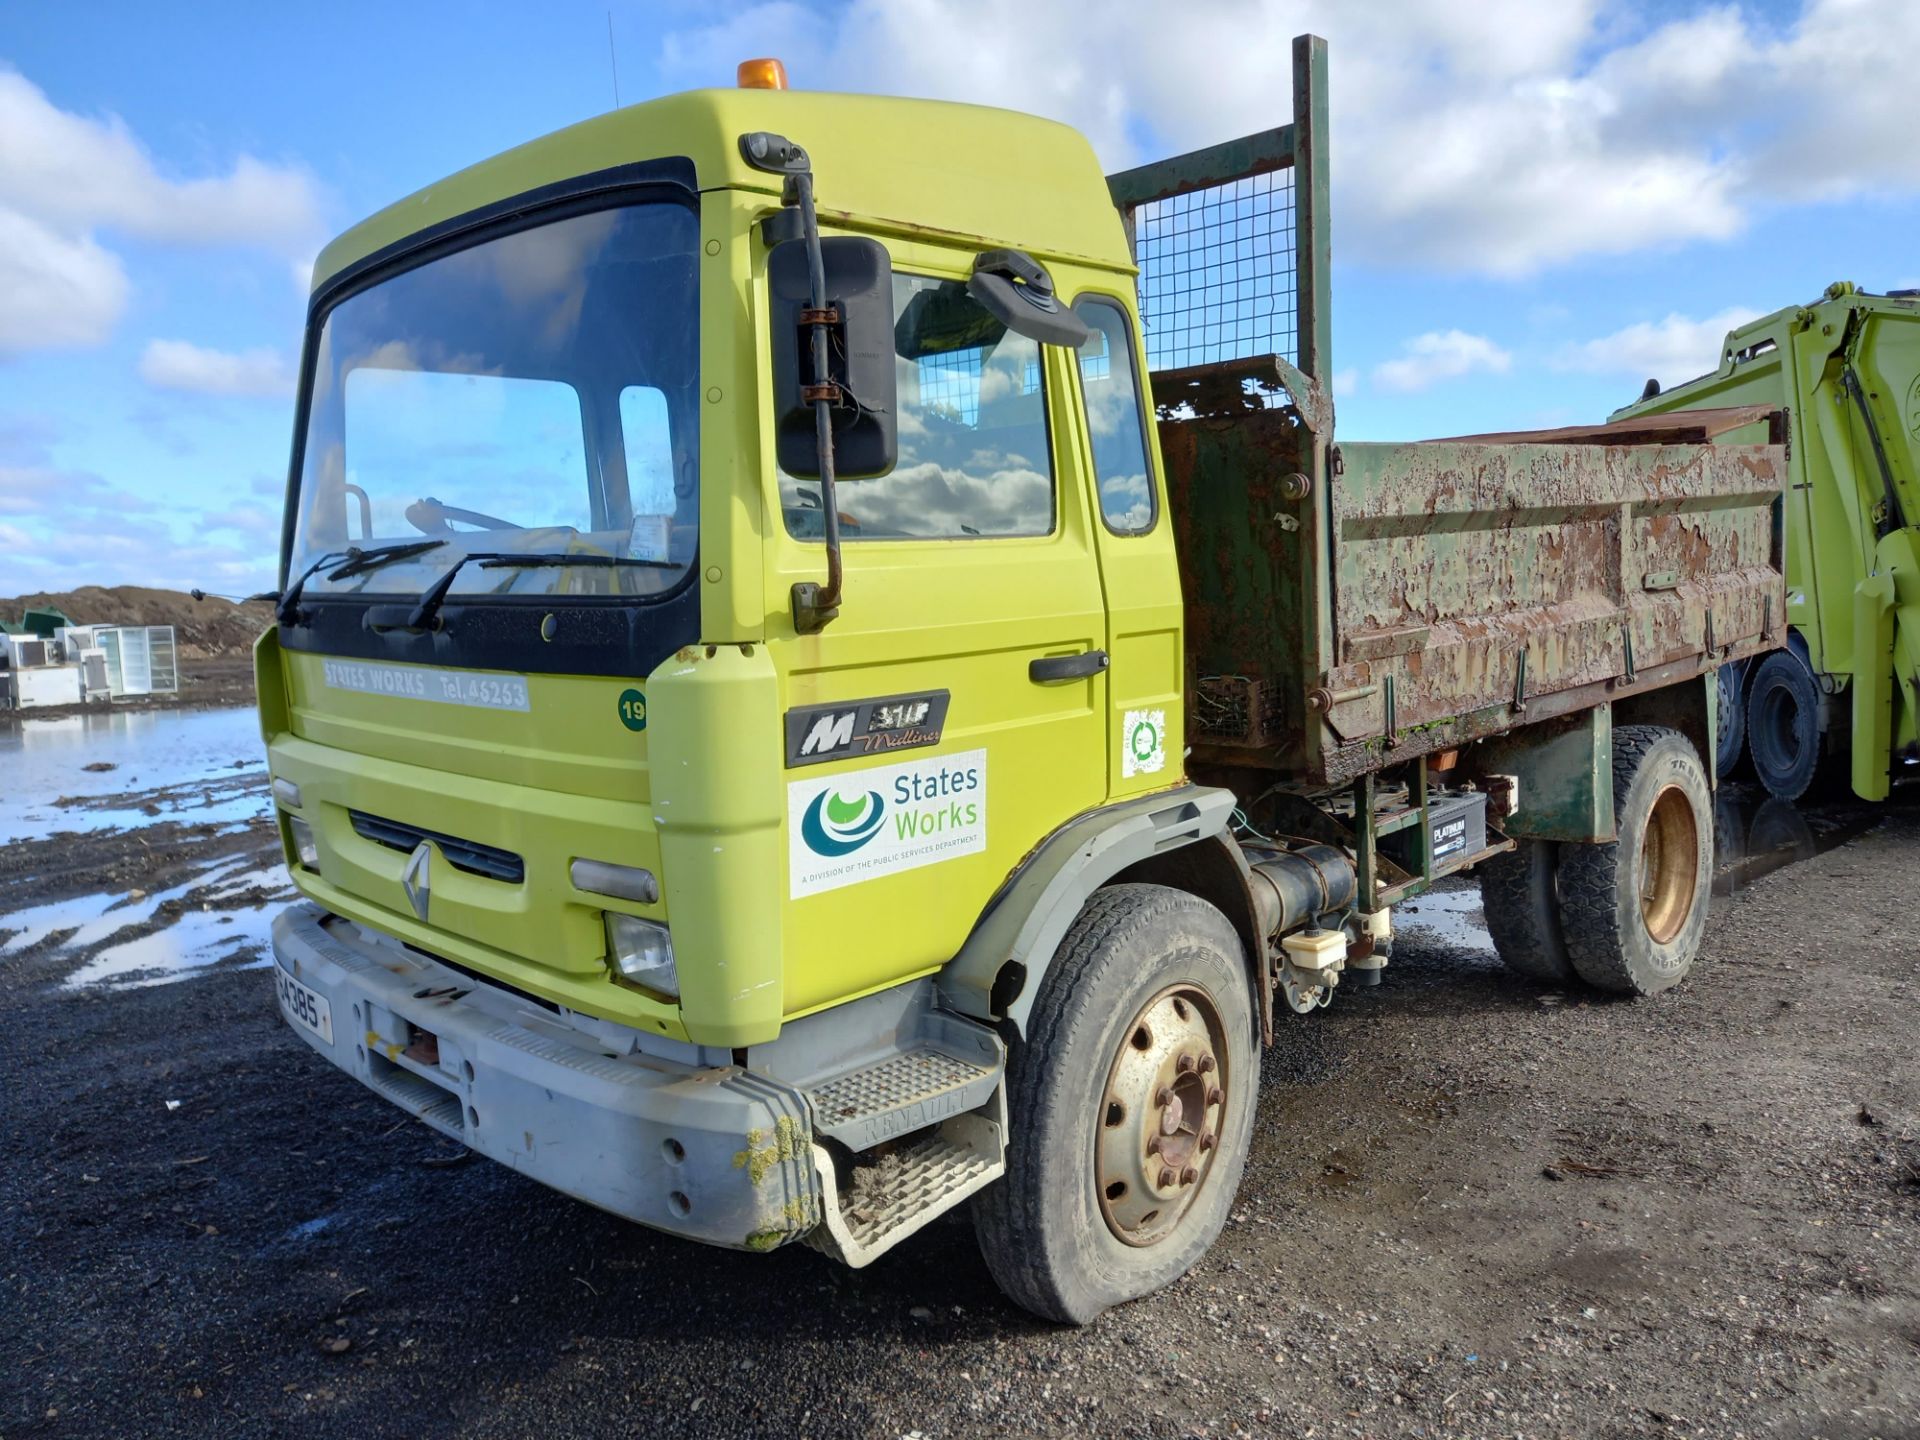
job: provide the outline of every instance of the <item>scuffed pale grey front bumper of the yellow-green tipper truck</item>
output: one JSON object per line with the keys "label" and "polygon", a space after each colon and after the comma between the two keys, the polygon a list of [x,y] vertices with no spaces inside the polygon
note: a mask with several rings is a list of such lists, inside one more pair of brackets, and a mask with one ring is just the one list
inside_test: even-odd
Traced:
{"label": "scuffed pale grey front bumper of the yellow-green tipper truck", "polygon": [[292,1025],[307,1044],[541,1185],[737,1250],[772,1250],[820,1219],[812,1117],[791,1085],[612,1056],[534,1000],[311,904],[275,920],[273,954],[332,1006],[332,1044]]}

